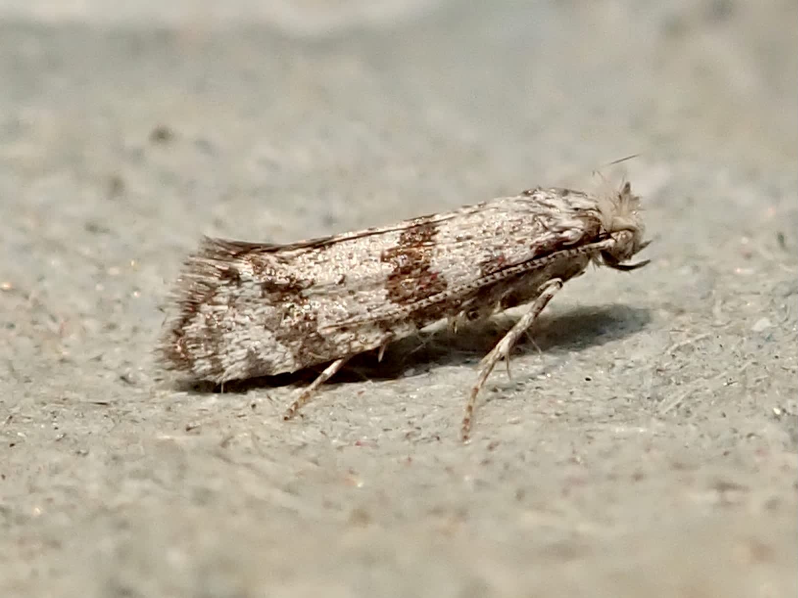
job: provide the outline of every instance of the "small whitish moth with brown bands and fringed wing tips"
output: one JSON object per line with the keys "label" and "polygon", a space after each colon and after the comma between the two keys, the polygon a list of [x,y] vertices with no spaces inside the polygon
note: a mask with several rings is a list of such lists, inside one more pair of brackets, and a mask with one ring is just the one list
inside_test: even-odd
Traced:
{"label": "small whitish moth with brown bands and fringed wing tips", "polygon": [[480,362],[460,431],[496,363],[551,298],[591,263],[630,271],[643,240],[630,183],[606,194],[535,188],[397,224],[275,245],[203,238],[172,295],[160,364],[223,384],[326,364],[296,415],[358,353],[433,322],[454,327],[526,306]]}

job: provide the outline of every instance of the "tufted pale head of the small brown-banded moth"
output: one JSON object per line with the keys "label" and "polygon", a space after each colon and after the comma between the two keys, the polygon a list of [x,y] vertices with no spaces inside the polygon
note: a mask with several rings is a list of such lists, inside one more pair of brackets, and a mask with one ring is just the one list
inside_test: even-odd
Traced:
{"label": "tufted pale head of the small brown-banded moth", "polygon": [[649,260],[625,264],[638,251],[643,250],[650,241],[643,240],[645,229],[639,213],[640,198],[632,193],[632,186],[626,182],[619,191],[606,196],[599,203],[602,225],[610,242],[601,251],[604,266],[618,270],[642,268]]}

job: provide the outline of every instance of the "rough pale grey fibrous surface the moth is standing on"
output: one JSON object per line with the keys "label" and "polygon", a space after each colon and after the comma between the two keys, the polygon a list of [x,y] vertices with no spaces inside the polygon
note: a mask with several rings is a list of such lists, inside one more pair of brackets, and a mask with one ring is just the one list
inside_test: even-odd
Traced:
{"label": "rough pale grey fibrous surface the moth is standing on", "polygon": [[[794,596],[795,2],[323,4],[0,4],[0,595]],[[293,423],[290,385],[156,380],[199,234],[633,152],[652,265],[567,285],[467,447],[506,320],[363,360]]]}

